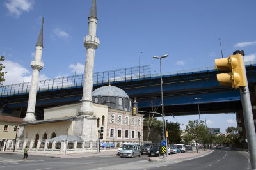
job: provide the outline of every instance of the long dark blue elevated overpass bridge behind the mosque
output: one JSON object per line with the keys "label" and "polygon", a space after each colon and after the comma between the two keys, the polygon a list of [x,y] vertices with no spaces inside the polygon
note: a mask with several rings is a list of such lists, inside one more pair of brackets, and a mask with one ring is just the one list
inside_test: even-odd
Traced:
{"label": "long dark blue elevated overpass bridge behind the mosque", "polygon": [[[242,109],[239,90],[221,86],[214,67],[198,68],[179,72],[163,73],[164,112],[171,114],[198,114],[199,100],[202,114],[239,112]],[[256,61],[246,63],[246,73],[251,92],[252,105],[255,105]],[[38,83],[36,116],[42,118],[45,107],[79,102],[83,93],[84,75],[60,77]],[[150,65],[140,68],[124,68],[94,73],[93,90],[106,86],[111,81],[138,102],[140,111],[157,107],[161,112],[160,75],[152,74]],[[0,108],[4,114],[23,118],[26,115],[30,82],[12,84],[0,88]]]}

